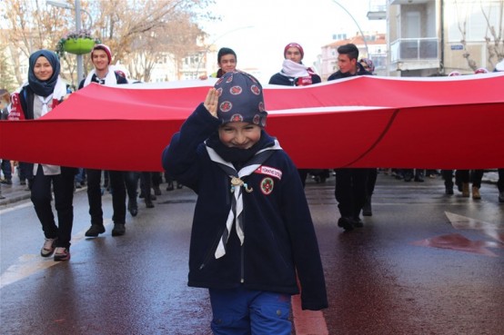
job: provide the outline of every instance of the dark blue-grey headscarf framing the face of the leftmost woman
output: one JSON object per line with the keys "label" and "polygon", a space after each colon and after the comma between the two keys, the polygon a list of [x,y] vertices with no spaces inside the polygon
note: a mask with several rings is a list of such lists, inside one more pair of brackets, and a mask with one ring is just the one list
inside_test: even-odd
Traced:
{"label": "dark blue-grey headscarf framing the face of the leftmost woman", "polygon": [[[35,77],[34,68],[38,57],[44,56],[47,61],[53,66],[53,75],[45,80],[40,81]],[[59,59],[57,55],[50,50],[38,50],[30,55],[30,67],[28,68],[28,84],[36,95],[48,96],[55,91],[57,77],[59,75]]]}

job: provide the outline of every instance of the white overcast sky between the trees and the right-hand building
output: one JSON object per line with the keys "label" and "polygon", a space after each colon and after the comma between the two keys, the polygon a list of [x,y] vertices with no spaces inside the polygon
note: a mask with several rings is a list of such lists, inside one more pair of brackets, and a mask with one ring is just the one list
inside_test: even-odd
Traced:
{"label": "white overcast sky between the trees and the right-hand building", "polygon": [[346,33],[349,37],[358,32],[358,26],[364,33],[386,30],[384,20],[368,20],[368,0],[338,0],[358,26],[333,0],[216,0],[216,3],[213,13],[222,20],[203,25],[210,34],[208,43],[234,49],[237,68],[258,68],[263,73],[259,78],[262,82],[280,70],[283,49],[290,42],[303,46],[303,63],[313,64],[320,47],[331,43],[333,34]]}

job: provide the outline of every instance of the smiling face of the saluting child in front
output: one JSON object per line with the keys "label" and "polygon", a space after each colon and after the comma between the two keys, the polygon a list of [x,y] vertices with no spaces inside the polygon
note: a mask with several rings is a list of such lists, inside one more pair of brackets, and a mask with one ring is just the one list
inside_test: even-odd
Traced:
{"label": "smiling face of the saluting child in front", "polygon": [[253,123],[225,123],[218,128],[218,137],[227,147],[249,149],[261,138],[261,128]]}

